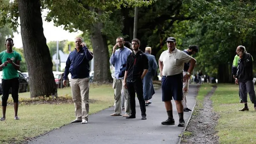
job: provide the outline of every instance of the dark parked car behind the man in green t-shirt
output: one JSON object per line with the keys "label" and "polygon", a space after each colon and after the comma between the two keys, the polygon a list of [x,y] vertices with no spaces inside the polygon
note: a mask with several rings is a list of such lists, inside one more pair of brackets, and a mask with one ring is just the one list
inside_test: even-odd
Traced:
{"label": "dark parked car behind the man in green t-shirt", "polygon": [[[28,81],[27,79],[19,72],[19,92],[28,92]],[[0,95],[2,95],[2,71],[0,71]],[[9,93],[12,93],[12,89],[10,89]]]}

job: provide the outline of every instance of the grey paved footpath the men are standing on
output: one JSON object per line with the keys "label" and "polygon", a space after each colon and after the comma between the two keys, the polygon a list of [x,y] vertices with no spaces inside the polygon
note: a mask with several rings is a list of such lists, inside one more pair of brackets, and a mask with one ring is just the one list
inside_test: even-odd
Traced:
{"label": "grey paved footpath the men are standing on", "polygon": [[[189,87],[187,96],[188,108],[193,108],[197,94],[196,85]],[[141,120],[140,106],[136,101],[136,118],[126,119],[122,116],[109,116],[114,112],[114,108],[102,110],[89,116],[88,124],[68,124],[60,129],[40,136],[29,144],[176,144],[178,137],[184,127],[178,127],[179,116],[175,102],[173,104],[173,117],[175,125],[161,125],[166,120],[167,114],[164,102],[161,99],[161,89],[156,91],[147,109],[147,120]],[[136,98],[137,99],[137,98]],[[124,111],[123,111],[124,112]],[[185,122],[191,112],[184,112]]]}

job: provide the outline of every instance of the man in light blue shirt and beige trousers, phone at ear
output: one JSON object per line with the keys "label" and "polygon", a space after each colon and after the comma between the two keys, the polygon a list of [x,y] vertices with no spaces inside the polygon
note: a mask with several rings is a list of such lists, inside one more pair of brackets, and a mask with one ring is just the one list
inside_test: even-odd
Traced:
{"label": "man in light blue shirt and beige trousers, phone at ear", "polygon": [[[116,50],[116,48],[119,48]],[[124,46],[124,38],[117,37],[116,38],[116,45],[113,47],[113,53],[110,57],[110,64],[115,67],[114,72],[114,80],[113,80],[113,89],[115,90],[115,112],[110,116],[121,116],[122,109],[121,109],[121,92],[122,89],[124,91],[124,110],[125,114],[124,117],[128,117],[130,114],[130,101],[128,90],[124,87],[124,72],[126,66],[126,60],[128,55],[132,52],[129,48]]]}

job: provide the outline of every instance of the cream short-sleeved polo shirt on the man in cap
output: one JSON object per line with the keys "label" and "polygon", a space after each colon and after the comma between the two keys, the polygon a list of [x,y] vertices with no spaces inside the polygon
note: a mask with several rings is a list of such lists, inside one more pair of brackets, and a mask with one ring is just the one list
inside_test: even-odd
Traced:
{"label": "cream short-sleeved polo shirt on the man in cap", "polygon": [[188,63],[191,56],[178,49],[174,49],[171,53],[166,50],[161,53],[159,60],[163,62],[163,76],[177,75],[183,72],[184,63]]}

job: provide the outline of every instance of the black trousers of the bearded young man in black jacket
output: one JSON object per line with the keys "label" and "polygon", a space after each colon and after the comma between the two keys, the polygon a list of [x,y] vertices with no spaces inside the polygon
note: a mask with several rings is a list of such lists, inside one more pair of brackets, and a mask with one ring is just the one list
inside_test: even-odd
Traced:
{"label": "black trousers of the bearded young man in black jacket", "polygon": [[135,110],[135,92],[136,92],[137,98],[140,103],[141,116],[146,116],[146,105],[145,105],[145,100],[143,98],[142,80],[136,80],[135,82],[126,82],[126,85],[130,95],[131,115],[132,116],[136,115],[136,110]]}

